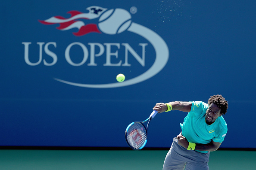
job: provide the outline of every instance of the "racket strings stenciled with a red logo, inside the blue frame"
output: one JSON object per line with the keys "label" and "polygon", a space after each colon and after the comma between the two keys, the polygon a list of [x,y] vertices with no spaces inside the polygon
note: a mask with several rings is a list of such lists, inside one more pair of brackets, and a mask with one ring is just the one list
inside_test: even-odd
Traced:
{"label": "racket strings stenciled with a red logo, inside the blue frame", "polygon": [[130,146],[134,149],[140,149],[147,140],[147,131],[143,124],[134,123],[129,127],[126,138]]}

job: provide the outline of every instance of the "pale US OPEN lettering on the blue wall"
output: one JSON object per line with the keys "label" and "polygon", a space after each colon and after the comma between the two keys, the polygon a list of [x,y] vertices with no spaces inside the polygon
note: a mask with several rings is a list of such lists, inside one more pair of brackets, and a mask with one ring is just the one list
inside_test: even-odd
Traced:
{"label": "pale US OPEN lettering on the blue wall", "polygon": [[[43,60],[44,65],[45,66],[53,66],[54,64],[57,63],[58,58],[57,55],[53,52],[50,51],[49,46],[53,45],[54,48],[57,47],[56,42],[48,42],[48,43],[44,43],[44,42],[37,42],[37,44],[39,45],[39,59],[37,62],[31,62],[29,60],[29,45],[31,44],[31,42],[22,42],[22,44],[24,44],[24,58],[25,58],[25,62],[30,65],[30,66],[36,66],[38,64],[41,63],[41,61]],[[44,46],[45,44],[45,46]],[[72,56],[70,56],[70,50],[72,50],[73,46],[80,46],[82,49],[82,61],[79,63],[74,62],[74,60],[72,61]],[[124,60],[125,62],[122,64],[122,60],[119,58],[119,50],[121,49],[121,45],[120,43],[88,43],[88,45],[91,47],[90,48],[90,63],[88,63],[88,66],[97,66],[97,62],[95,61],[96,57],[102,56],[104,54],[104,52],[106,51],[106,63],[103,64],[103,66],[127,66],[130,67],[131,64],[128,63],[128,58],[129,58],[129,54],[131,54],[139,63],[141,66],[145,66],[145,52],[146,52],[146,46],[148,45],[147,43],[139,43],[139,46],[141,46],[142,48],[142,53],[141,56],[137,54],[136,50],[134,50],[128,43],[122,43],[122,46],[124,47],[121,52],[124,53],[122,56],[124,56]],[[104,46],[106,46],[106,50],[104,48]],[[50,63],[49,61],[47,62],[46,59],[43,59],[43,46],[44,46],[44,52],[49,55],[53,61]],[[115,51],[116,50],[116,51]],[[79,54],[79,52],[78,52]],[[79,42],[75,42],[75,43],[71,43],[69,44],[69,46],[67,46],[66,50],[65,50],[65,58],[66,61],[72,65],[72,66],[81,66],[83,65],[87,59],[88,59],[88,49],[87,47],[83,44],[83,43],[79,43]],[[73,56],[74,57],[74,56]],[[79,56],[75,56],[76,58]],[[114,58],[113,58],[114,57]]]}

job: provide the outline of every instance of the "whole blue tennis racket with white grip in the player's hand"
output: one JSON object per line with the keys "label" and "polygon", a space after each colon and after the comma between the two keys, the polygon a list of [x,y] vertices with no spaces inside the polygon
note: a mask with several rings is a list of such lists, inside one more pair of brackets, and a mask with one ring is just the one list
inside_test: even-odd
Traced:
{"label": "whole blue tennis racket with white grip in the player's hand", "polygon": [[[128,125],[125,131],[125,139],[127,144],[134,150],[144,148],[147,143],[147,128],[150,120],[155,117],[157,111],[153,111],[149,118],[144,121],[134,121]],[[143,123],[147,122],[147,128]]]}

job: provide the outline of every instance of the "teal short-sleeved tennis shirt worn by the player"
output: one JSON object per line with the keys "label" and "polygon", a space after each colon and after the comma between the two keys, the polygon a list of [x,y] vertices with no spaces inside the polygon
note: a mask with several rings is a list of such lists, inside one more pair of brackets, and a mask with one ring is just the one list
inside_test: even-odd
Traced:
{"label": "teal short-sleeved tennis shirt worn by the player", "polygon": [[[207,108],[208,104],[202,101],[192,102],[191,110],[181,124],[182,136],[186,137],[188,142],[206,144],[212,140],[219,143],[224,140],[228,131],[226,121],[220,116],[213,124],[207,124],[205,120]],[[195,151],[207,153],[207,151]]]}

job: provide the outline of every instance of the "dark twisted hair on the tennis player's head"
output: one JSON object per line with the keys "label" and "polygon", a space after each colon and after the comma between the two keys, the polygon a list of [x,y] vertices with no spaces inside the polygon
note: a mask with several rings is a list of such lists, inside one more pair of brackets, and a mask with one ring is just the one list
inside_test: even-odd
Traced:
{"label": "dark twisted hair on the tennis player's head", "polygon": [[212,103],[216,104],[221,109],[220,113],[225,115],[228,109],[228,101],[226,101],[225,98],[222,97],[222,95],[217,94],[217,95],[211,96],[208,100],[208,105]]}

